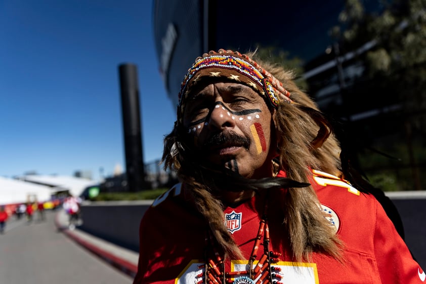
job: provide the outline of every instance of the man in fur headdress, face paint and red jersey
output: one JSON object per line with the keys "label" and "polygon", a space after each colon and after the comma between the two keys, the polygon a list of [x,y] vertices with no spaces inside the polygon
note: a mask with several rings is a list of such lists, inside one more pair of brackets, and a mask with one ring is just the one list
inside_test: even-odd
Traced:
{"label": "man in fur headdress, face paint and red jersey", "polygon": [[219,50],[183,79],[134,283],[423,283],[374,196],[344,179],[328,121],[282,67]]}

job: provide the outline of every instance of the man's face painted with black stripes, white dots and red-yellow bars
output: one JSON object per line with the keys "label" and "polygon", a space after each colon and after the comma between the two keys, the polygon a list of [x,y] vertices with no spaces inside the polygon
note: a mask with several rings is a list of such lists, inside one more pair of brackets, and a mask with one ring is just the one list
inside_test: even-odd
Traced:
{"label": "man's face painted with black stripes, white dots and red-yellow bars", "polygon": [[[271,119],[264,98],[257,92],[245,85],[221,82],[206,84],[188,99],[183,125],[194,136],[195,147],[203,147],[202,159],[244,177],[262,178],[271,175]],[[231,139],[203,146],[220,133],[227,137],[232,133],[249,142]]]}

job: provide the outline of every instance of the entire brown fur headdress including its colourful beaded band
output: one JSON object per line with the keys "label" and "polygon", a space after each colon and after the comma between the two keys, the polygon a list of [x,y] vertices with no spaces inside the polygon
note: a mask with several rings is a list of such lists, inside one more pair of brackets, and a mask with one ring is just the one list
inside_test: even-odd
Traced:
{"label": "entire brown fur headdress including its colourful beaded band", "polygon": [[[252,55],[254,56],[254,53]],[[279,167],[286,172],[288,178],[308,183],[309,168],[325,170],[332,174],[338,171],[334,155],[322,159],[327,157],[328,150],[338,148],[335,147],[334,138],[328,139],[331,127],[327,120],[315,108],[312,100],[297,88],[292,81],[291,72],[285,71],[281,66],[261,63],[259,60],[256,62],[250,58],[252,55],[219,50],[196,59],[183,79],[179,94],[178,119],[172,133],[164,139],[162,157],[164,167],[176,170],[193,195],[198,211],[206,219],[218,244],[225,253],[234,256],[238,256],[239,249],[221,217],[222,203],[215,197],[215,190],[220,190],[223,183],[218,184],[218,181],[226,179],[228,185],[234,184],[241,190],[277,188],[277,184],[271,181],[271,178],[244,180],[233,176],[232,173],[218,173],[200,163],[192,146],[187,143],[188,135],[182,126],[182,117],[185,104],[192,95],[191,91],[201,79],[219,76],[230,82],[245,84],[260,96],[265,96],[273,106],[271,109],[274,109]],[[286,181],[282,185],[284,188],[289,187],[282,200],[283,234],[288,234],[295,258],[301,260],[309,257],[313,251],[323,251],[338,257],[340,241],[318,210],[319,201],[313,188],[308,186],[300,189],[297,187],[303,184],[289,184]]]}

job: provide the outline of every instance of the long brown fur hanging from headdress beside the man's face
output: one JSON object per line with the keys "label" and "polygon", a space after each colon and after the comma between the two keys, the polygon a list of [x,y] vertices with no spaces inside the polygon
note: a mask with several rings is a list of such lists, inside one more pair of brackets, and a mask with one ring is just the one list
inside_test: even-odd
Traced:
{"label": "long brown fur hanging from headdress beside the man's face", "polygon": [[[254,53],[247,55],[255,56]],[[294,102],[281,102],[273,112],[280,169],[286,172],[288,178],[307,183],[310,182],[310,168],[337,174],[338,142],[315,103],[297,88],[291,72],[260,59],[257,62],[283,83]],[[330,152],[337,153],[330,155]],[[215,174],[200,167],[187,143],[186,132],[178,123],[164,139],[162,161],[164,168],[177,172],[192,194],[199,213],[225,254],[242,259],[238,246],[224,225],[223,205],[217,198],[218,189],[211,177]],[[311,186],[303,190],[290,187],[282,200],[283,233],[287,232],[297,261],[309,259],[312,252],[323,252],[340,258],[342,242],[319,210],[319,205]]]}

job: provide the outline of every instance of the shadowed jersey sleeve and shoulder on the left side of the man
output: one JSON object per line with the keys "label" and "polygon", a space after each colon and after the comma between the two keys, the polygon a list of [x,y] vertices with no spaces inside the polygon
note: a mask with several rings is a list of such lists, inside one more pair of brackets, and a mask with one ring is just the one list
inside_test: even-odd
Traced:
{"label": "shadowed jersey sleeve and shoulder on the left side of the man", "polygon": [[199,259],[199,252],[203,256],[205,240],[197,234],[202,219],[180,192],[180,185],[166,191],[144,213],[134,284],[173,284],[191,260]]}

